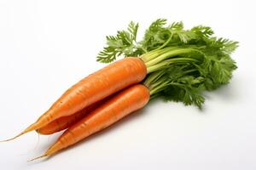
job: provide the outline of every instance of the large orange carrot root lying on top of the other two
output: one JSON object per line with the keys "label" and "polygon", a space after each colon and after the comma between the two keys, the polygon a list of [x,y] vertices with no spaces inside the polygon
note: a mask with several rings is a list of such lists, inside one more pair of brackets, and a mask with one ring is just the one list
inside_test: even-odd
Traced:
{"label": "large orange carrot root lying on top of the other two", "polygon": [[[119,90],[141,82],[146,77],[147,68],[142,59],[128,57],[120,59],[99,71],[85,77],[61,95],[48,111],[38,120],[12,139],[24,133],[44,127],[62,116],[70,116],[84,107],[108,97]],[[7,139],[3,141],[9,141]]]}

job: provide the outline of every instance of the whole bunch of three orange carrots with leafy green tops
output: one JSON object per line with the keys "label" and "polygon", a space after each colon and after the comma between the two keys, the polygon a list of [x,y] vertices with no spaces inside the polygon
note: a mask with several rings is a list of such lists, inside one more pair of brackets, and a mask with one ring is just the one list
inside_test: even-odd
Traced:
{"label": "whole bunch of three orange carrots with leafy green tops", "polygon": [[182,101],[201,108],[203,92],[228,83],[236,69],[230,54],[237,42],[213,37],[210,27],[185,30],[182,22],[166,26],[166,20],[159,19],[139,42],[137,30],[138,24],[131,22],[127,31],[107,37],[107,47],[97,60],[110,63],[120,55],[125,58],[67,89],[15,138],[34,130],[52,134],[66,129],[39,157],[52,156],[143,108],[149,99]]}

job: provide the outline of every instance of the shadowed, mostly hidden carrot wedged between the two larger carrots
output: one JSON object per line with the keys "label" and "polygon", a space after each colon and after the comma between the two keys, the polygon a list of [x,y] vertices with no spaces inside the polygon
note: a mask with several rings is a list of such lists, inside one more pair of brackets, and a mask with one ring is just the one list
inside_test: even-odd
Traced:
{"label": "shadowed, mostly hidden carrot wedged between the two larger carrots", "polygon": [[61,118],[56,119],[53,122],[49,122],[49,124],[45,125],[44,127],[38,128],[36,131],[40,134],[52,134],[52,133],[60,132],[61,130],[64,130],[67,127],[70,127],[75,122],[78,122],[80,119],[82,119],[84,116],[89,114],[91,111],[94,111],[99,105],[102,105],[102,103],[107,101],[109,98],[110,96],[88,107],[85,107],[83,110],[78,111],[73,115],[63,116]]}

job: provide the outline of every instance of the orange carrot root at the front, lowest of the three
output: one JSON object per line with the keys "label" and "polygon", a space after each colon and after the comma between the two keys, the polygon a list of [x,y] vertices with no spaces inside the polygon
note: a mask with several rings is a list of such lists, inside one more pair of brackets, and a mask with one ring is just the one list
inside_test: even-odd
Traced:
{"label": "orange carrot root at the front, lowest of the three", "polygon": [[131,112],[143,108],[148,103],[149,97],[148,88],[142,84],[126,88],[99,106],[95,111],[92,111],[90,115],[85,116],[82,120],[73,124],[72,127],[69,127],[43,156],[34,159],[51,156],[57,151],[76,144],[93,133],[109,127]]}

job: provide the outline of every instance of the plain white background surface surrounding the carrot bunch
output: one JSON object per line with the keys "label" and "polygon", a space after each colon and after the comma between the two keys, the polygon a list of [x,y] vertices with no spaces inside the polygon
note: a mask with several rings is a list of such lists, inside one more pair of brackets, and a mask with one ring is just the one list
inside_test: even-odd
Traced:
{"label": "plain white background surface surrounding the carrot bunch", "polygon": [[0,0],[0,138],[19,133],[96,63],[105,36],[153,20],[212,26],[240,42],[230,85],[195,106],[147,105],[111,128],[47,160],[39,156],[58,135],[28,133],[0,144],[0,169],[256,168],[255,5],[252,1],[13,1]]}

